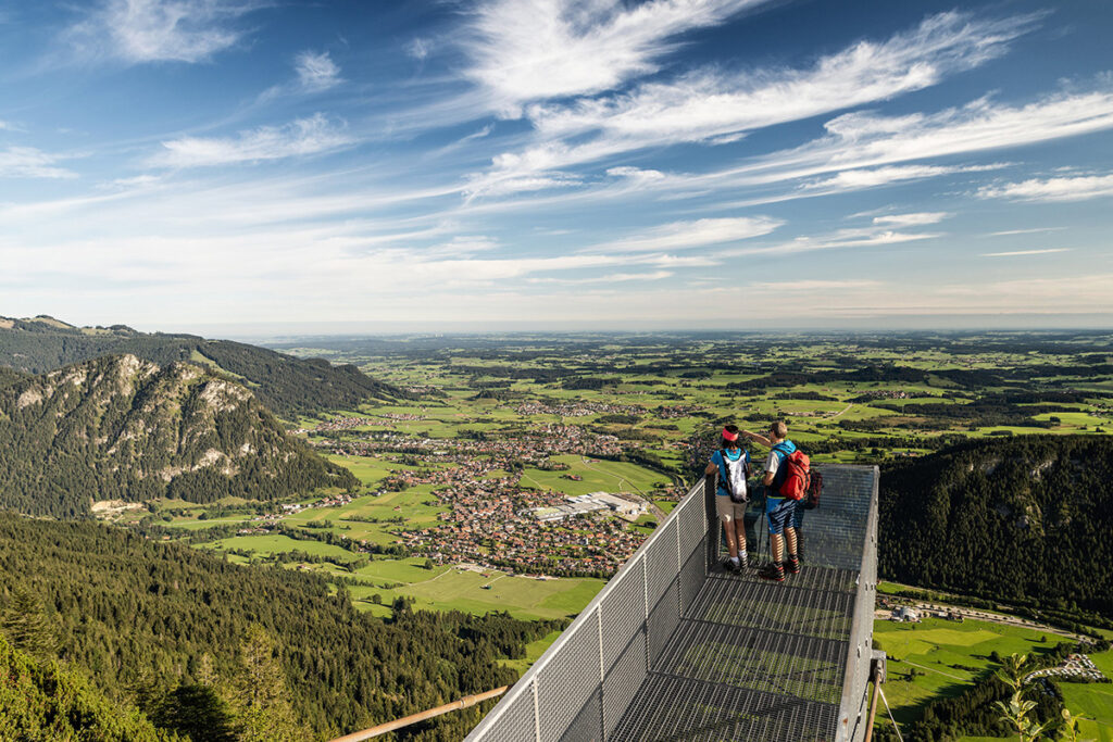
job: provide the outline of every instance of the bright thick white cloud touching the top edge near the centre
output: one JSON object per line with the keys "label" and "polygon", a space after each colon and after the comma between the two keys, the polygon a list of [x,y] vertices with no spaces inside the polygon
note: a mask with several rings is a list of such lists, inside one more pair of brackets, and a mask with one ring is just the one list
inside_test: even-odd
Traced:
{"label": "bright thick white cloud touching the top edge near the centre", "polygon": [[611,90],[653,72],[677,34],[766,1],[490,0],[469,31],[465,73],[516,117],[524,101]]}

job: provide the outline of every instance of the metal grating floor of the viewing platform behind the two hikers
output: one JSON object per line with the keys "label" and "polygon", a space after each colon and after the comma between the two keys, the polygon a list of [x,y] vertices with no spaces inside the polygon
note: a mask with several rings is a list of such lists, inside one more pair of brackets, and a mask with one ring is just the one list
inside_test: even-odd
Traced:
{"label": "metal grating floor of the viewing platform behind the two hikers", "polygon": [[709,574],[609,738],[834,740],[857,574]]}

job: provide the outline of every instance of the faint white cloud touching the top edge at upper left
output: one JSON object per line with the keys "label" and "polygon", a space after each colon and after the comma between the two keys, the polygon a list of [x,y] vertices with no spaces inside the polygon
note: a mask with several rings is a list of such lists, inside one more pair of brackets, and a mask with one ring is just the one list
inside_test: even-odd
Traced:
{"label": "faint white cloud touching the top edge at upper left", "polygon": [[257,7],[242,0],[106,0],[66,38],[86,56],[199,62],[235,44],[240,32],[230,23]]}

